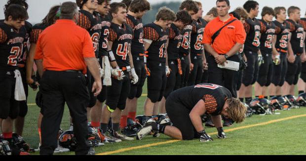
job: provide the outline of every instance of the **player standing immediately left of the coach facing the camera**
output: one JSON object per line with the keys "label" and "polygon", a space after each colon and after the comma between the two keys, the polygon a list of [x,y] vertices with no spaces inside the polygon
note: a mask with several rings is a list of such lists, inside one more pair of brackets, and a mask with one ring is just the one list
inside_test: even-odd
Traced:
{"label": "player standing immediately left of the coach facing the camera", "polygon": [[203,40],[203,33],[206,26],[206,21],[202,19],[203,9],[202,4],[196,1],[198,6],[198,12],[192,15],[192,32],[191,32],[191,41],[190,41],[190,58],[191,63],[193,64],[193,70],[189,76],[187,85],[198,84],[202,80],[203,69],[207,69],[207,63],[204,53],[204,45],[201,44]]}

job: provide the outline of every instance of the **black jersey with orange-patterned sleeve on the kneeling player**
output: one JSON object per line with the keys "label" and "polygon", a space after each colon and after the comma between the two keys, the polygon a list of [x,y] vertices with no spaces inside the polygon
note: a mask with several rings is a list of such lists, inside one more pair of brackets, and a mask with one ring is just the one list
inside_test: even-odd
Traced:
{"label": "black jersey with orange-patterned sleeve on the kneeling player", "polygon": [[226,100],[232,96],[223,86],[200,83],[175,90],[169,97],[180,102],[190,111],[202,99],[205,102],[206,114],[216,116],[220,115]]}

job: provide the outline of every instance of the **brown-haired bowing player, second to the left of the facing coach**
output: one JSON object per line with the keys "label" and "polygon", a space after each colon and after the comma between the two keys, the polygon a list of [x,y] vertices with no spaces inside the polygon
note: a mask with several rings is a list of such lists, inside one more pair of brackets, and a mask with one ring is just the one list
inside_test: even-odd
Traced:
{"label": "brown-haired bowing player, second to the left of the facing coach", "polygon": [[[197,4],[193,0],[184,0],[180,5],[180,10],[187,10],[188,13],[192,16],[198,12]],[[193,69],[193,64],[190,59],[190,40],[191,40],[191,31],[192,26],[187,25],[182,31],[182,43],[179,49],[179,56],[182,62],[182,76],[181,83],[177,84],[174,88],[178,89],[187,85],[187,81],[190,75],[190,71]]]}

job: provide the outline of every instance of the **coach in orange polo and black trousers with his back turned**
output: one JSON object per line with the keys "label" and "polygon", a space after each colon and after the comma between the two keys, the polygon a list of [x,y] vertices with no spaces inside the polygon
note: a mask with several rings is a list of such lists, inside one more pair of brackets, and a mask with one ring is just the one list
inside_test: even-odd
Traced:
{"label": "coach in orange polo and black trousers with his back turned", "polygon": [[94,150],[87,141],[86,107],[89,92],[84,74],[87,65],[95,80],[92,91],[95,96],[98,95],[102,89],[99,66],[88,32],[76,25],[76,3],[64,2],[60,8],[60,20],[40,34],[34,58],[41,77],[44,108],[40,155],[52,155],[57,148],[57,134],[65,102],[73,118],[74,135],[78,143],[76,155],[92,155]]}

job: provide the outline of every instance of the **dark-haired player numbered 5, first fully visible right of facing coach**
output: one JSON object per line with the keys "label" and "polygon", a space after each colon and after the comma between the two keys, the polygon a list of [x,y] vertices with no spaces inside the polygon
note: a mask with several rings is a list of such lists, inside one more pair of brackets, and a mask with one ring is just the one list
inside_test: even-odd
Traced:
{"label": "dark-haired player numbered 5, first fully visible right of facing coach", "polygon": [[248,67],[244,70],[242,76],[242,85],[239,90],[239,99],[248,104],[252,100],[252,84],[258,77],[258,54],[260,52],[260,23],[255,17],[259,13],[259,4],[257,1],[248,0],[244,3],[243,8],[248,12],[249,18],[246,20],[244,29],[247,38],[244,43],[244,54],[247,58]]}

